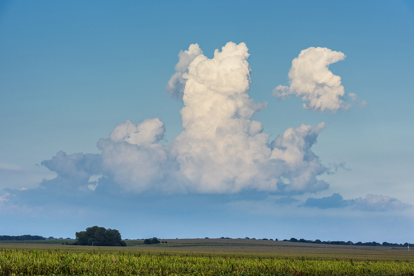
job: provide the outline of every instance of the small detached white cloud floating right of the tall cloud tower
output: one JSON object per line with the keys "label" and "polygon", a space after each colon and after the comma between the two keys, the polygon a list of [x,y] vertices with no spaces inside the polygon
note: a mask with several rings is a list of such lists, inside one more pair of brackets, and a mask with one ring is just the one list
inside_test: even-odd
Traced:
{"label": "small detached white cloud floating right of the tall cloud tower", "polygon": [[286,99],[294,94],[306,101],[303,108],[312,111],[336,112],[339,109],[348,109],[350,105],[342,100],[344,86],[341,84],[341,77],[332,74],[328,69],[331,63],[344,60],[345,57],[343,53],[328,48],[310,47],[301,50],[298,57],[292,60],[288,74],[290,86],[277,86],[273,95]]}

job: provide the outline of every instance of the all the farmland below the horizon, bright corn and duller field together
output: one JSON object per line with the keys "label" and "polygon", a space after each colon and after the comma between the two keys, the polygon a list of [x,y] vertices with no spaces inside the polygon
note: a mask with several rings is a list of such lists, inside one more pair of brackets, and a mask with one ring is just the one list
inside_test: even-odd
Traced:
{"label": "all the farmland below the horizon, bright corn and duller field together", "polygon": [[414,252],[402,247],[236,239],[166,241],[142,245],[142,240],[126,240],[129,247],[61,245],[61,241],[25,246],[0,243],[0,276],[414,276]]}

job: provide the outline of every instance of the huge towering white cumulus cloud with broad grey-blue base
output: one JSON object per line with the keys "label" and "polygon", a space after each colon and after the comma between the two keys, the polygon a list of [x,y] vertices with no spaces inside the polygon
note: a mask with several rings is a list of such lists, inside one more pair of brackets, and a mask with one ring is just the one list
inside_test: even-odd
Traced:
{"label": "huge towering white cumulus cloud with broad grey-blue base", "polygon": [[[289,128],[269,143],[263,125],[253,120],[266,103],[255,103],[248,95],[248,57],[245,43],[229,42],[221,51],[215,50],[212,59],[203,55],[197,44],[190,45],[179,54],[176,73],[167,85],[167,90],[184,102],[183,132],[165,146],[160,119],[126,120],[116,125],[107,139],[99,140],[99,161],[96,156],[81,156],[94,158],[91,160],[100,171],[79,156],[67,156],[60,159],[71,164],[67,170],[75,171],[63,172],[85,181],[90,175],[103,175],[135,192],[235,193],[256,189],[295,194],[327,189],[326,182],[317,180],[326,168],[310,150],[325,124],[315,130],[307,125]],[[81,159],[93,168],[88,175],[84,175],[88,168],[83,163],[74,164]],[[43,164],[60,168],[49,161]]]}

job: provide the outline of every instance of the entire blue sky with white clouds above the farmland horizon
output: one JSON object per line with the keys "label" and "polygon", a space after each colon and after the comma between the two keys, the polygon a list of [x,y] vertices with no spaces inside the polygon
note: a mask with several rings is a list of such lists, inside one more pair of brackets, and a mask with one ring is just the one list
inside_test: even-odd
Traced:
{"label": "entire blue sky with white clouds above the farmland horizon", "polygon": [[413,1],[2,1],[0,38],[0,235],[413,239]]}

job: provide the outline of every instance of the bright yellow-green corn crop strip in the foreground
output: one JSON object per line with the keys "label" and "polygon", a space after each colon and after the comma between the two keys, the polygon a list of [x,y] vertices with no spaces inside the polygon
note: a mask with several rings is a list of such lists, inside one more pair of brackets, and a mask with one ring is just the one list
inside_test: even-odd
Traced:
{"label": "bright yellow-green corn crop strip in the foreground", "polygon": [[414,275],[412,262],[0,250],[0,275]]}

